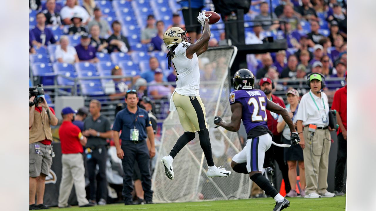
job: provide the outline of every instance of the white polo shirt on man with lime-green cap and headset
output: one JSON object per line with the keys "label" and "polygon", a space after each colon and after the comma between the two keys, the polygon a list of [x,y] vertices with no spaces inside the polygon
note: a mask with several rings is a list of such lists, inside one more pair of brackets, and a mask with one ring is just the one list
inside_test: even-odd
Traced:
{"label": "white polo shirt on man with lime-green cap and headset", "polygon": [[[324,92],[321,92],[321,98],[319,98],[309,90],[300,99],[296,119],[303,121],[303,126],[315,124],[317,127],[326,127],[329,125],[329,109],[328,98]],[[326,116],[326,123],[323,122],[323,115]]]}

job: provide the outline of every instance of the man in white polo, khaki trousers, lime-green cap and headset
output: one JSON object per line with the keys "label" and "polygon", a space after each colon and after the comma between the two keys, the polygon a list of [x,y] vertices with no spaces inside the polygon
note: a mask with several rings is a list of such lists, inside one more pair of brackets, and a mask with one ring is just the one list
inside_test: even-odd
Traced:
{"label": "man in white polo, khaki trousers, lime-green cap and headset", "polygon": [[[334,197],[334,193],[326,190],[331,145],[330,131],[334,129],[328,126],[328,99],[326,94],[321,92],[325,82],[324,76],[313,73],[308,75],[308,81],[311,90],[303,95],[296,114],[307,184],[304,197],[308,199]],[[315,128],[315,132],[309,131],[309,127]]]}

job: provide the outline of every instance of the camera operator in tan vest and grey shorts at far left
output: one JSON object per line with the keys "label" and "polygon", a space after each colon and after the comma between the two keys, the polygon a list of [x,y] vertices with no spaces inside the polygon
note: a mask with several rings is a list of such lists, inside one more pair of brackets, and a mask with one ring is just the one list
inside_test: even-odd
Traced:
{"label": "camera operator in tan vest and grey shorts at far left", "polygon": [[[43,204],[45,177],[49,174],[52,158],[52,131],[58,118],[44,99],[41,86],[30,89],[29,112],[29,205],[33,209],[49,209]],[[36,204],[35,204],[36,194]]]}

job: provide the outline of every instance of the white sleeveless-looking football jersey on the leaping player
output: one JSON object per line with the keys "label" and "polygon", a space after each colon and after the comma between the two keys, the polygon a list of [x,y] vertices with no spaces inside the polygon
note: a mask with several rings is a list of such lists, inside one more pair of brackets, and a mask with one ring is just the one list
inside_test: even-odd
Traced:
{"label": "white sleeveless-looking football jersey on the leaping player", "polygon": [[173,52],[171,61],[177,73],[175,92],[185,96],[200,96],[199,59],[196,53],[192,59],[185,56],[185,51],[190,45],[189,42],[181,42]]}

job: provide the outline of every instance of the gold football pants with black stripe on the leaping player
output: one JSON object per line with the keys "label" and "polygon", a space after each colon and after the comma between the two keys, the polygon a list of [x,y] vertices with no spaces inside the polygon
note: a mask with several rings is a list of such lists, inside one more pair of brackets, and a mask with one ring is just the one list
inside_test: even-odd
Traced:
{"label": "gold football pants with black stripe on the leaping player", "polygon": [[172,99],[185,132],[195,133],[196,130],[208,128],[205,120],[205,107],[200,97],[184,96],[175,92]]}

